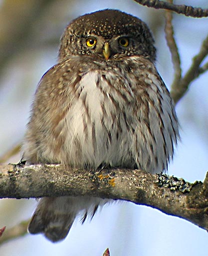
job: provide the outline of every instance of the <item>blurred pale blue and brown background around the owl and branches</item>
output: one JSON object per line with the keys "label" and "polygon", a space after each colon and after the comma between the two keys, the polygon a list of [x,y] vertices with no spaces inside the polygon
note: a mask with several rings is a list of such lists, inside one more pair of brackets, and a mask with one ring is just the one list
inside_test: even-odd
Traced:
{"label": "blurred pale blue and brown background around the owl and branches", "polygon": [[[175,3],[208,8],[207,0]],[[57,61],[64,27],[81,14],[103,8],[126,11],[150,26],[158,49],[157,68],[170,89],[173,66],[164,35],[164,11],[133,0],[0,0],[0,155],[22,141],[35,88]],[[184,74],[208,34],[208,19],[174,14],[173,24]],[[191,182],[204,180],[208,171],[208,72],[191,84],[176,111],[182,140],[169,174]],[[6,162],[19,159],[20,153]],[[0,227],[28,219],[36,203],[34,199],[1,199]],[[81,225],[77,221],[60,243],[26,234],[1,245],[0,255],[101,256],[107,247],[111,256],[207,255],[208,234],[159,210],[117,202],[106,205],[91,222]]]}

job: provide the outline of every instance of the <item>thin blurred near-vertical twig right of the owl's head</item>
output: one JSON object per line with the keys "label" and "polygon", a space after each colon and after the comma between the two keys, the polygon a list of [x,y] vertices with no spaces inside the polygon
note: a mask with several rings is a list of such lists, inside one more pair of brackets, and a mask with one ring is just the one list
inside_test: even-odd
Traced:
{"label": "thin blurred near-vertical twig right of the owl's head", "polygon": [[[168,0],[168,1],[171,3],[173,2],[173,0]],[[171,52],[171,58],[172,58],[174,71],[175,71],[174,81],[172,86],[175,87],[175,84],[178,84],[178,82],[181,79],[181,72],[182,72],[181,60],[180,60],[180,55],[179,55],[178,47],[176,44],[176,40],[174,38],[174,28],[172,25],[172,19],[173,19],[172,12],[167,10],[165,12],[165,18],[166,18],[166,25],[165,25],[166,40]]]}

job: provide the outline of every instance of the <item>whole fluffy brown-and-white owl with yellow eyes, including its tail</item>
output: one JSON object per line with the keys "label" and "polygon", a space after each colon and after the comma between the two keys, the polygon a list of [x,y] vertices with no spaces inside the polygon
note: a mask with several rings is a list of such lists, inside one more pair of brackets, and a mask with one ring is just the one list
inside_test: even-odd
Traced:
{"label": "whole fluffy brown-and-white owl with yellow eyes, including its tail", "polygon": [[[178,121],[155,60],[152,34],[135,16],[105,9],[72,20],[61,38],[58,63],[38,84],[24,159],[94,170],[167,169]],[[61,240],[76,216],[85,220],[107,201],[42,198],[28,230]]]}

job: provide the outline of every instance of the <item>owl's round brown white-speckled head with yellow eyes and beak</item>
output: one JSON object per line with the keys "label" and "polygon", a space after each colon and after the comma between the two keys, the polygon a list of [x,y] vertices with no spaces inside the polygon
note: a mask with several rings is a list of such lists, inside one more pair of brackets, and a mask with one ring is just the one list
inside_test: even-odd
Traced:
{"label": "owl's round brown white-speckled head with yellow eyes and beak", "polygon": [[154,61],[156,49],[150,29],[141,19],[104,9],[79,16],[66,27],[59,57],[63,60],[71,55],[90,55],[103,61],[140,55]]}

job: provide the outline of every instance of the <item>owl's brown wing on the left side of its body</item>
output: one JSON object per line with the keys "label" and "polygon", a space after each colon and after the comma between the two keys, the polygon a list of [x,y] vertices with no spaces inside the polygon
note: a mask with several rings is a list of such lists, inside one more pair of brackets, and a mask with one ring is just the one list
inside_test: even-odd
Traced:
{"label": "owl's brown wing on the left side of its body", "polygon": [[61,162],[66,136],[66,113],[80,80],[76,61],[68,59],[51,67],[41,78],[32,104],[23,142],[23,158],[31,163]]}

